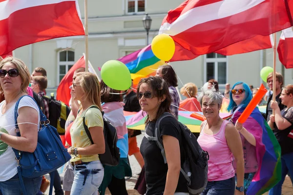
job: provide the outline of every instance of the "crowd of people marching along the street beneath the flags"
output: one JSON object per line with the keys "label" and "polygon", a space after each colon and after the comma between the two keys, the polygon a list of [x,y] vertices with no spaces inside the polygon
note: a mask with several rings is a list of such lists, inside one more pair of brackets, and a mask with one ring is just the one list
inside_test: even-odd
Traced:
{"label": "crowd of people marching along the street beneath the flags", "polygon": [[[142,168],[136,184],[140,194],[188,195],[188,186],[181,173],[186,152],[178,123],[179,111],[202,112],[206,120],[201,123],[197,139],[204,151],[209,153],[208,183],[201,195],[245,195],[251,181],[260,169],[257,158],[256,126],[272,131],[281,147],[281,180],[270,190],[269,195],[281,195],[282,184],[287,175],[293,181],[293,85],[283,87],[281,74],[276,73],[276,97],[269,92],[258,106],[267,105],[266,113],[256,107],[251,115],[264,117],[265,122],[248,119],[240,123],[238,118],[256,94],[257,88],[245,82],[236,82],[219,92],[219,84],[211,79],[200,90],[194,83],[185,84],[180,93],[186,97],[181,101],[177,76],[170,65],[159,67],[156,76],[142,78],[137,89],[117,91],[108,87],[96,75],[75,70],[72,78],[71,112],[65,123],[65,137],[71,160],[64,166],[63,186],[58,171],[55,171],[56,195],[105,195],[106,188],[112,195],[127,195],[126,177],[131,176],[128,156],[134,155]],[[267,78],[272,91],[272,74]],[[17,160],[12,148],[34,152],[40,128],[41,108],[48,118],[46,98],[47,77],[43,68],[36,68],[30,75],[20,59],[7,57],[0,61],[0,195],[20,195],[21,186],[17,171]],[[198,92],[200,91],[200,92]],[[3,96],[2,96],[3,95]],[[17,118],[21,137],[16,136],[15,103],[22,96]],[[219,113],[223,99],[230,99],[227,110],[230,120]],[[140,148],[136,136],[141,131],[127,129],[124,111],[146,113],[145,137]],[[174,117],[163,118],[159,124],[166,161],[154,137],[156,121],[164,113]],[[274,113],[274,114],[273,114]],[[117,166],[103,165],[99,154],[105,153],[104,120],[117,130],[117,147],[120,159]],[[88,133],[89,132],[89,133]],[[265,163],[265,162],[263,162]],[[41,195],[49,181],[39,178],[23,178],[29,195]],[[65,191],[65,193],[63,193]]]}

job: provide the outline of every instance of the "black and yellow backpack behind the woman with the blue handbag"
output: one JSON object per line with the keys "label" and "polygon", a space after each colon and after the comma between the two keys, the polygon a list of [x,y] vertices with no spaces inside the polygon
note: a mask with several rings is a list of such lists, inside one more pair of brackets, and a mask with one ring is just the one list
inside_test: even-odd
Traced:
{"label": "black and yellow backpack behind the woman with the blue handbag", "polygon": [[57,129],[59,135],[65,135],[65,122],[70,113],[70,108],[54,98],[54,93],[51,93],[51,98],[43,96],[49,104],[49,120],[50,125]]}

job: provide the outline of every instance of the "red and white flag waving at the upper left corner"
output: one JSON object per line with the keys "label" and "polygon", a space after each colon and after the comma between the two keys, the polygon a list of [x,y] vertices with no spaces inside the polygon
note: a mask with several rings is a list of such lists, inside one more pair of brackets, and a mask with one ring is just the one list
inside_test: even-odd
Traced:
{"label": "red and white flag waving at the upper left corner", "polygon": [[77,35],[84,35],[77,0],[0,0],[0,55]]}

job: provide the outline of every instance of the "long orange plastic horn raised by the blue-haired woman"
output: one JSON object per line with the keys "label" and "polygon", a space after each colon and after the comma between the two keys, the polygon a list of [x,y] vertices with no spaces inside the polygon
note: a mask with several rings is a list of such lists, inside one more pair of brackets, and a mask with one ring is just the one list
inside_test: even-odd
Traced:
{"label": "long orange plastic horn raised by the blue-haired woman", "polygon": [[251,115],[252,111],[257,106],[257,104],[260,102],[260,100],[265,96],[267,91],[268,90],[265,88],[265,86],[263,84],[261,84],[261,86],[260,86],[259,90],[257,91],[257,93],[255,94],[255,96],[251,99],[251,101],[249,102],[249,104],[247,105],[247,107],[245,108],[243,113],[238,118],[238,122],[244,123],[246,121],[246,119]]}

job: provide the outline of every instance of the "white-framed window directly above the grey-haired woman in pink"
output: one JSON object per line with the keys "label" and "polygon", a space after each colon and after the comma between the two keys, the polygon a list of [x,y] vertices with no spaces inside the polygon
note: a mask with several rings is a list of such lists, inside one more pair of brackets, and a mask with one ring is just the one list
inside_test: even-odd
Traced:
{"label": "white-framed window directly above the grey-haired woman in pink", "polygon": [[227,57],[221,54],[210,53],[205,57],[205,82],[214,78],[220,84],[227,83]]}

